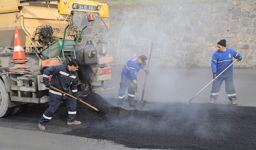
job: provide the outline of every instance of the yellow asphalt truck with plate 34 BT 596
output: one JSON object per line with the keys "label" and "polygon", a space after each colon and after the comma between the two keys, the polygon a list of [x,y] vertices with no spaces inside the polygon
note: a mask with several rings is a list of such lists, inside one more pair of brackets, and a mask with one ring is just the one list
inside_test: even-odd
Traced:
{"label": "yellow asphalt truck with plate 34 BT 596", "polygon": [[[73,58],[80,61],[79,95],[112,90],[104,86],[111,79],[113,61],[108,56],[108,44],[83,40],[83,29],[73,23],[75,11],[86,12],[93,22],[97,13],[104,22],[109,18],[105,2],[89,0],[1,0],[0,7],[0,117],[22,112],[28,103],[49,101],[48,88],[43,84],[43,70],[53,65],[67,64]],[[18,27],[29,72],[10,73],[13,64],[15,27]],[[51,80],[51,76],[49,81]],[[100,86],[89,83],[101,82]]]}

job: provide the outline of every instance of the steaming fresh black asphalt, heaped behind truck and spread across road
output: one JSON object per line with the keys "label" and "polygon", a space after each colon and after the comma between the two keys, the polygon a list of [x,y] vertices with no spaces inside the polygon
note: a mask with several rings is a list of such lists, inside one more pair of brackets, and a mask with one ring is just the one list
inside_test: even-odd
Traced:
{"label": "steaming fresh black asphalt, heaped behind truck and spread across road", "polygon": [[[256,108],[217,104],[167,103],[139,111],[114,107],[95,93],[79,103],[80,128],[64,134],[112,140],[130,148],[177,150],[256,149]],[[62,120],[67,116],[62,115]]]}

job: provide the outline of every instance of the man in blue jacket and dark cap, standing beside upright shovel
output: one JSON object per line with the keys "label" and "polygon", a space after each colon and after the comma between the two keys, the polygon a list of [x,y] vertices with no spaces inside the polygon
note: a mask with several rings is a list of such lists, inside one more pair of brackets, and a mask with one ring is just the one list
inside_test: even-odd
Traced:
{"label": "man in blue jacket and dark cap, standing beside upright shovel", "polygon": [[146,74],[149,71],[145,68],[147,57],[145,55],[136,56],[131,58],[125,64],[122,70],[122,78],[120,82],[120,89],[118,92],[118,102],[117,105],[123,108],[123,100],[125,99],[125,91],[128,87],[128,102],[129,106],[136,107],[134,101],[135,92],[137,92],[137,74],[140,69],[144,70]]}

